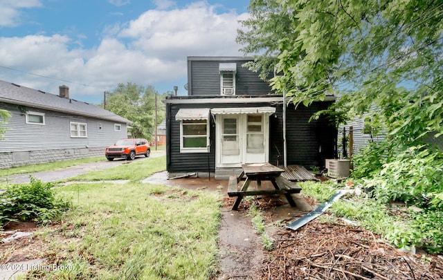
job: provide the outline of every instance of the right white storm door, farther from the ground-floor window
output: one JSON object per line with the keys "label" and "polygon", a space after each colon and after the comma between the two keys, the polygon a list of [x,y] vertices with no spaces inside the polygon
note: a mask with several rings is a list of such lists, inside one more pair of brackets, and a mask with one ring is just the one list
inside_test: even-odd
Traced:
{"label": "right white storm door, farther from the ground-floor window", "polygon": [[267,162],[267,125],[263,114],[246,117],[246,163]]}

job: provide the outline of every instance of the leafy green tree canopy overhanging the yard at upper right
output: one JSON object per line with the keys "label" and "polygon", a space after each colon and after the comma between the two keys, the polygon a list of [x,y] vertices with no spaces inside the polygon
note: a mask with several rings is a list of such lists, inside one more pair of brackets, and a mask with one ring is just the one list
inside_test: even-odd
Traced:
{"label": "leafy green tree canopy overhanging the yard at upper right", "polygon": [[252,0],[249,9],[237,41],[256,71],[277,58],[277,92],[305,105],[335,93],[356,113],[375,105],[372,125],[389,124],[397,143],[443,133],[441,0]]}

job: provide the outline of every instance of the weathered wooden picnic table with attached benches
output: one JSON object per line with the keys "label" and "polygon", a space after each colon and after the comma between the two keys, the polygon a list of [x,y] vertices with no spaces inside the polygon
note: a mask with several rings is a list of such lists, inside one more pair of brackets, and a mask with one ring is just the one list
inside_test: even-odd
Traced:
{"label": "weathered wooden picnic table with attached benches", "polygon": [[[233,205],[233,210],[237,210],[244,196],[267,194],[284,194],[289,204],[292,207],[296,207],[296,203],[293,201],[291,194],[300,193],[301,188],[296,185],[296,183],[292,183],[281,176],[283,172],[283,169],[276,167],[275,165],[271,165],[268,162],[242,165],[242,173],[238,177],[230,176],[229,178],[228,196],[237,196],[237,200],[235,200]],[[244,180],[242,187],[239,188],[238,183],[244,176],[246,176],[246,179]],[[257,182],[256,190],[248,190],[248,187],[252,181]],[[262,189],[262,181],[271,181],[275,189]]]}

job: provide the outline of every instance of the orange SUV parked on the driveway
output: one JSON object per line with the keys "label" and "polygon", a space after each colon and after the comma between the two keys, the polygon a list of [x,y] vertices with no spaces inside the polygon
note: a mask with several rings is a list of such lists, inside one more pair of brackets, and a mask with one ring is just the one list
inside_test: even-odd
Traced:
{"label": "orange SUV parked on the driveway", "polygon": [[144,155],[145,157],[149,157],[150,154],[150,144],[146,139],[138,138],[120,139],[116,144],[106,147],[105,149],[107,160],[114,160],[114,158],[134,160],[136,156]]}

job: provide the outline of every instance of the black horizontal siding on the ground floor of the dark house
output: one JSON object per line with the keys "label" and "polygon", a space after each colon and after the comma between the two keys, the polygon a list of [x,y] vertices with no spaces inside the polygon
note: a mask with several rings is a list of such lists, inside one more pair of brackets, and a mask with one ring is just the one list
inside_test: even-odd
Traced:
{"label": "black horizontal siding on the ground floor of the dark house", "polygon": [[[305,167],[324,167],[325,158],[334,158],[336,129],[327,126],[325,120],[309,122],[316,111],[326,109],[330,102],[314,103],[308,108],[293,104],[287,108],[287,164]],[[170,173],[215,172],[215,123],[210,118],[210,154],[180,153],[180,122],[175,115],[181,108],[228,108],[273,106],[269,103],[254,104],[168,104],[167,118],[170,126],[167,134],[167,169]],[[269,117],[269,162],[282,165],[283,158],[283,119],[282,104]],[[321,149],[320,149],[321,146]],[[208,164],[209,161],[209,164]],[[209,167],[208,167],[209,166]]]}

